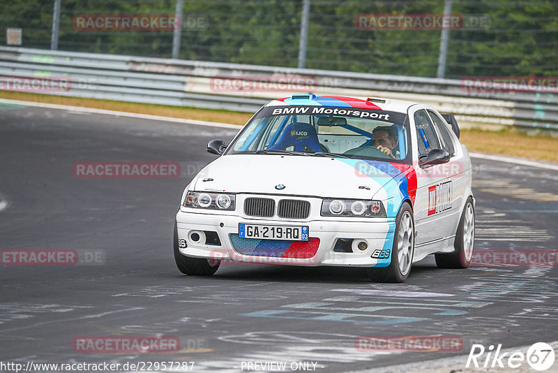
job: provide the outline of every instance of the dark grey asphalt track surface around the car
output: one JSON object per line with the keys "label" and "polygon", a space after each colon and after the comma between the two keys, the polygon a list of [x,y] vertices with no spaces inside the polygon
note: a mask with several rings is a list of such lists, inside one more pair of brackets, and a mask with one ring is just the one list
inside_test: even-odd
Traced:
{"label": "dark grey asphalt track surface around the car", "polygon": [[[214,159],[206,143],[234,130],[1,109],[0,249],[100,253],[95,263],[0,267],[1,362],[193,361],[193,372],[246,371],[248,362],[286,362],[286,371],[306,362],[319,372],[416,363],[428,372],[439,358],[465,367],[472,344],[558,340],[556,265],[442,270],[426,258],[405,284],[371,283],[358,268],[223,265],[213,277],[181,275],[172,256],[181,193]],[[73,164],[87,161],[172,161],[182,174],[75,177]],[[474,166],[476,252],[555,251],[558,171]],[[403,335],[458,336],[462,351],[355,346],[359,336]],[[180,351],[75,351],[77,337],[99,336],[177,337]]]}

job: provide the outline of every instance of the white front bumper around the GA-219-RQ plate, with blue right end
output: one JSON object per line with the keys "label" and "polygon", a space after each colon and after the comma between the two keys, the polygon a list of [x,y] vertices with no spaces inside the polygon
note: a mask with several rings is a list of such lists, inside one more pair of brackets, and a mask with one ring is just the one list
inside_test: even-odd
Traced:
{"label": "white front bumper around the GA-219-RQ plate, with blue right end", "polygon": [[[294,256],[262,256],[241,254],[238,247],[239,223],[266,224],[279,226],[308,226],[310,240],[319,239],[315,254],[310,258]],[[391,248],[395,232],[394,219],[343,219],[343,220],[286,220],[286,219],[250,219],[235,214],[208,214],[184,211],[176,214],[179,251],[193,258],[229,260],[243,263],[262,263],[273,265],[338,265],[345,267],[387,267],[391,263]],[[216,232],[220,244],[206,244],[204,240],[194,242],[190,237],[193,231],[204,235],[204,232]],[[236,242],[236,249],[232,242]],[[368,249],[353,252],[333,251],[338,239],[365,240]],[[248,241],[267,241],[240,239]],[[297,241],[294,241],[297,242]],[[316,242],[315,240],[313,242]],[[300,242],[299,242],[300,243]],[[269,247],[273,242],[264,242]],[[288,245],[288,242],[287,242]],[[296,247],[296,245],[294,245]],[[292,253],[292,250],[289,251]]]}

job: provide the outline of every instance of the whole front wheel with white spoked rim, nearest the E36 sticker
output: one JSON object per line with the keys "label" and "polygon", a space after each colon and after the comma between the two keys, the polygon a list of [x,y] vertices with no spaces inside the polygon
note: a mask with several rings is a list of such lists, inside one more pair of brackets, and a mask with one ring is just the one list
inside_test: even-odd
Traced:
{"label": "whole front wheel with white spoked rim, nearest the E36 sticker", "polygon": [[411,206],[403,203],[395,223],[391,263],[386,268],[368,268],[373,281],[404,282],[409,277],[414,254],[414,219]]}

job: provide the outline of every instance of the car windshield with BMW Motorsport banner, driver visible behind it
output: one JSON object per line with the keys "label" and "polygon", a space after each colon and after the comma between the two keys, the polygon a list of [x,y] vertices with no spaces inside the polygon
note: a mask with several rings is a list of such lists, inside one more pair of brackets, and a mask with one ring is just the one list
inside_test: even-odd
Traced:
{"label": "car windshield with BMW Motorsport banner, driver visible behind it", "polygon": [[227,154],[333,156],[407,162],[409,121],[401,112],[329,106],[259,111]]}

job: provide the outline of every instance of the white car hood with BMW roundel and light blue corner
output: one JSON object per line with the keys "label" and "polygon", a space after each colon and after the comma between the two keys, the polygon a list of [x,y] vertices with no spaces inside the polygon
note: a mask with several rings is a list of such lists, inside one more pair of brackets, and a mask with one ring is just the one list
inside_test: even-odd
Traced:
{"label": "white car hood with BMW roundel and light blue corner", "polygon": [[196,191],[369,199],[400,173],[389,162],[231,154],[209,163],[193,185]]}

